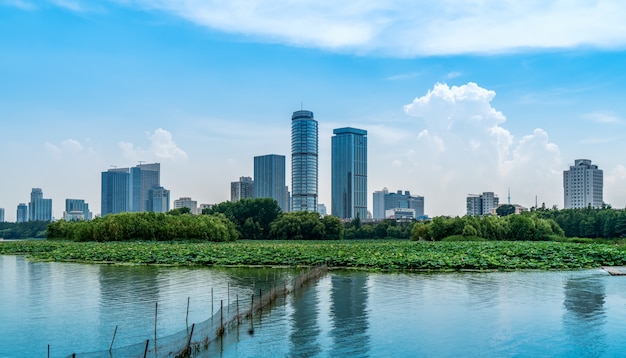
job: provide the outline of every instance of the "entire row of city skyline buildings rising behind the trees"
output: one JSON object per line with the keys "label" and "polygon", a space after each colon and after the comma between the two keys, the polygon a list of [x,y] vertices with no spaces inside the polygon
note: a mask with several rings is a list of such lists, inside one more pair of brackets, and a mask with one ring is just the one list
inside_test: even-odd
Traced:
{"label": "entire row of city skyline buildings rising behind the trees", "polygon": [[[286,182],[286,157],[281,154],[258,155],[253,158],[253,177],[241,176],[230,184],[230,200],[271,198],[283,212],[310,211],[327,214],[318,202],[319,170],[318,122],[313,112],[299,110],[291,116],[291,192]],[[160,182],[160,163],[129,168],[112,168],[101,173],[100,215],[122,212],[168,212],[170,191]],[[589,159],[576,159],[563,171],[564,207],[599,208],[602,198],[603,171]],[[368,212],[368,149],[367,131],[353,127],[333,130],[331,137],[331,203],[330,214],[342,220],[361,219],[426,219],[424,197],[407,191],[389,192],[387,188],[373,193],[373,212]],[[494,192],[469,194],[466,214],[495,215],[500,199]],[[510,203],[516,213],[528,209]],[[536,204],[535,204],[536,205]],[[173,202],[174,209],[189,208],[192,214],[210,209],[212,204],[198,204],[190,197]],[[63,219],[91,220],[89,204],[83,199],[66,199]],[[0,208],[0,222],[5,212]],[[44,198],[41,188],[33,188],[28,203],[17,206],[16,221],[52,221],[52,199]]]}

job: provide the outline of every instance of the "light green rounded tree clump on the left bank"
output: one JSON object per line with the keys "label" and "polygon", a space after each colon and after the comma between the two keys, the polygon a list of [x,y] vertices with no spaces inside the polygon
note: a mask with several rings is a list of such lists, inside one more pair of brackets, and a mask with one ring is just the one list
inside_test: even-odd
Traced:
{"label": "light green rounded tree clump on the left bank", "polygon": [[120,213],[92,221],[59,220],[50,223],[48,238],[73,241],[233,241],[237,239],[237,231],[223,215]]}

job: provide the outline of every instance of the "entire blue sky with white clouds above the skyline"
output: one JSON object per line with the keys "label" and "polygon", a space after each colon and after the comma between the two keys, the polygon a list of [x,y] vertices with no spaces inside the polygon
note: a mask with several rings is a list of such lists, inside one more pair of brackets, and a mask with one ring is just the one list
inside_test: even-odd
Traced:
{"label": "entire blue sky with white clouds above the skyline", "polygon": [[[33,187],[100,212],[100,173],[160,162],[172,200],[228,200],[290,157],[291,113],[366,129],[371,193],[463,215],[467,194],[563,207],[575,159],[626,206],[626,4],[0,0],[0,207]],[[290,183],[290,173],[287,176]]]}

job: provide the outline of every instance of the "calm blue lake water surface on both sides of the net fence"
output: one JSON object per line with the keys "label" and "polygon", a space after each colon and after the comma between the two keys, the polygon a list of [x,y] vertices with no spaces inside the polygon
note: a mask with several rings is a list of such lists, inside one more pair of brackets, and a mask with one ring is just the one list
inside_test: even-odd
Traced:
{"label": "calm blue lake water surface on both sides of the net fence", "polygon": [[[0,357],[45,357],[48,344],[51,357],[108,349],[115,325],[116,346],[145,341],[155,302],[157,332],[171,334],[186,327],[188,297],[189,322],[199,322],[210,316],[211,287],[226,301],[274,275],[0,256]],[[621,357],[625,329],[626,277],[601,270],[333,271],[203,356]]]}

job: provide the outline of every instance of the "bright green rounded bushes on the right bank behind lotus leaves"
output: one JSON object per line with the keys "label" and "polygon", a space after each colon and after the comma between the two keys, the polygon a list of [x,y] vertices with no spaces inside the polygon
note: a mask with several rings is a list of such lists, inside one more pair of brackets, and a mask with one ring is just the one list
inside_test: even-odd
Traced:
{"label": "bright green rounded bushes on the right bank behind lotus leaves", "polygon": [[563,230],[552,219],[536,215],[505,217],[438,216],[413,226],[411,239],[440,241],[449,236],[479,237],[486,240],[544,241],[563,237]]}

